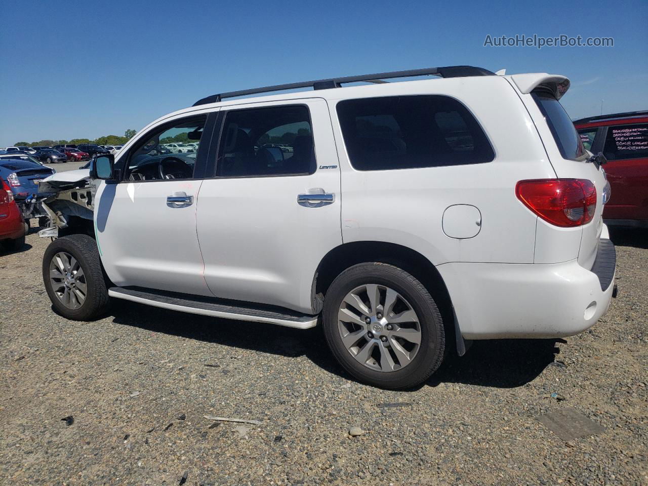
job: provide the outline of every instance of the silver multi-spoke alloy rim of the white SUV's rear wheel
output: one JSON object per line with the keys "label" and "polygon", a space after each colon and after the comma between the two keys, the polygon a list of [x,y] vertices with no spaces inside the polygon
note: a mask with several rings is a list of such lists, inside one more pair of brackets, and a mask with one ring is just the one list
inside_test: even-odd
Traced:
{"label": "silver multi-spoke alloy rim of the white SUV's rear wheel", "polygon": [[358,286],[344,297],[338,332],[356,361],[386,373],[411,364],[421,347],[421,323],[413,307],[380,284]]}

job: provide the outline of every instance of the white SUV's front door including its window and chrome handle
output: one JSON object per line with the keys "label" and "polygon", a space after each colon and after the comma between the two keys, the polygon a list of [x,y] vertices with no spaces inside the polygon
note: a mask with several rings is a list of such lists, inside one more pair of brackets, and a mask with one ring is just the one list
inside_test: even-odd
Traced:
{"label": "white SUV's front door including its window and chrome handle", "polygon": [[206,115],[185,117],[149,130],[117,161],[122,181],[98,189],[97,243],[116,285],[211,295],[196,236],[196,198],[209,147],[175,154],[164,146],[200,143],[206,121]]}

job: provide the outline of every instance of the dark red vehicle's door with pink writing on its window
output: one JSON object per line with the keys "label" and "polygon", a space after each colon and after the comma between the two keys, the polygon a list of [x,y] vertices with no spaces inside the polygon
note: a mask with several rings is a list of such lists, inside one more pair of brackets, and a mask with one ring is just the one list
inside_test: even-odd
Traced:
{"label": "dark red vehicle's door with pink writing on its window", "polygon": [[603,217],[648,220],[648,122],[612,124],[603,133],[610,202]]}

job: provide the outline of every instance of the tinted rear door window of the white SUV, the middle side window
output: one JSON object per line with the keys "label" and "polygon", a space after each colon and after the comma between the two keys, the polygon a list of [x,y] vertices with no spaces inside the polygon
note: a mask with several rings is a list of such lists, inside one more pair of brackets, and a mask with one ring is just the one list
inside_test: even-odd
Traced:
{"label": "tinted rear door window of the white SUV, the middle side window", "polygon": [[287,176],[315,172],[310,113],[303,105],[229,111],[216,176]]}

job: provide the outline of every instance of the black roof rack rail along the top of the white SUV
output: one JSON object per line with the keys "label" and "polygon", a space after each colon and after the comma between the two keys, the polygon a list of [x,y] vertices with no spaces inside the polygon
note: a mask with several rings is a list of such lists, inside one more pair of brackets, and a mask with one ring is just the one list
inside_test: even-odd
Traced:
{"label": "black roof rack rail along the top of the white SUV", "polygon": [[473,66],[446,66],[446,67],[428,67],[426,69],[410,69],[409,71],[391,71],[390,73],[376,73],[373,75],[345,76],[343,78],[319,79],[314,81],[305,81],[299,83],[276,84],[275,86],[255,87],[253,89],[242,89],[241,91],[229,91],[229,93],[220,93],[202,98],[194,103],[198,106],[207,103],[217,103],[224,98],[235,98],[246,95],[256,95],[258,93],[269,93],[272,91],[284,91],[286,89],[298,89],[302,87],[312,87],[312,89],[330,89],[341,87],[343,83],[354,82],[384,82],[389,78],[407,78],[410,76],[434,75],[441,78],[461,78],[465,76],[494,76],[488,69]]}

